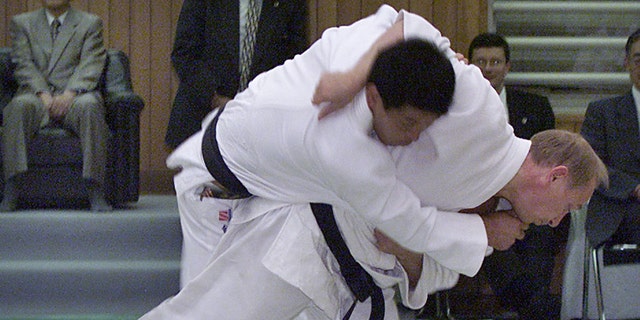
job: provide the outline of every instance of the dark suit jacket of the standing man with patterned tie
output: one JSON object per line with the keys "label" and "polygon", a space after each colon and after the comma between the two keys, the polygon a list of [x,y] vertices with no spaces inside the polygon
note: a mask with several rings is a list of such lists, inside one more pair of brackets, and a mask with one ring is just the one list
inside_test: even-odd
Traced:
{"label": "dark suit jacket of the standing man with patterned tie", "polygon": [[[307,48],[305,0],[263,0],[251,76]],[[171,60],[180,79],[165,142],[177,146],[200,129],[213,94],[238,91],[239,1],[185,0]]]}

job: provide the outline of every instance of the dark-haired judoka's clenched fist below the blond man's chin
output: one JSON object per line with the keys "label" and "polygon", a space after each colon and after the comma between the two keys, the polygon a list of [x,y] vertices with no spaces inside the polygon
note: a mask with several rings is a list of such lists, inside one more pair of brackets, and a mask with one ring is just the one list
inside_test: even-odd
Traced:
{"label": "dark-haired judoka's clenched fist below the blond man's chin", "polygon": [[529,225],[520,221],[513,210],[481,214],[480,217],[487,230],[489,246],[496,250],[509,249],[516,239],[523,239],[525,230],[529,229]]}

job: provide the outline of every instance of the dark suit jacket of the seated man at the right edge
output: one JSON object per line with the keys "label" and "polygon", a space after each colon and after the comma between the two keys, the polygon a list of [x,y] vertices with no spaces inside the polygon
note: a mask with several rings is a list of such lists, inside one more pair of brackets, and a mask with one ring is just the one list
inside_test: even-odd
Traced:
{"label": "dark suit jacket of the seated man at the right edge", "polygon": [[597,246],[616,232],[625,215],[640,213],[640,204],[630,197],[640,184],[638,112],[631,92],[591,102],[581,133],[609,170],[609,188],[597,189],[587,209],[587,238]]}

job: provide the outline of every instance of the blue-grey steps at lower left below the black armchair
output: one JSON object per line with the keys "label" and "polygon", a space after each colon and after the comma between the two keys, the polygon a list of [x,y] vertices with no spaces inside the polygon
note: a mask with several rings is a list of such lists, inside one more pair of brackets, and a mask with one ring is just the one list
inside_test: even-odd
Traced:
{"label": "blue-grey steps at lower left below the black armchair", "polygon": [[137,319],[179,290],[174,196],[0,215],[0,319]]}

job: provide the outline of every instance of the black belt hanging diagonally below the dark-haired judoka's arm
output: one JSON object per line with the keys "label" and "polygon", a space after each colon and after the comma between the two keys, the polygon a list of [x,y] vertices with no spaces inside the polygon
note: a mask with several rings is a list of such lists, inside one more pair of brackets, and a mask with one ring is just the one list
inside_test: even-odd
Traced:
{"label": "black belt hanging diagonally below the dark-haired judoka's arm", "polygon": [[[374,282],[369,275],[349,252],[347,244],[344,242],[336,220],[333,216],[331,205],[324,203],[312,203],[311,211],[316,218],[316,222],[322,231],[327,246],[340,265],[340,273],[347,282],[347,286],[356,296],[357,301],[363,302],[371,297],[370,320],[384,319],[384,296],[382,289]],[[343,319],[349,319],[355,307],[355,302]]]}

